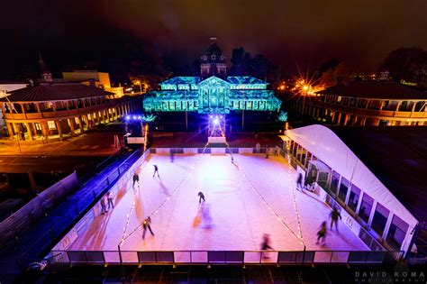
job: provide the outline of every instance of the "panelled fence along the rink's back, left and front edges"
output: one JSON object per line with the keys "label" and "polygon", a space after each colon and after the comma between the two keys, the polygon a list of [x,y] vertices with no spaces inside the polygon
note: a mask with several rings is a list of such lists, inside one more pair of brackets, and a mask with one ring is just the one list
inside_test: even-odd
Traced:
{"label": "panelled fence along the rink's back, left and front edges", "polygon": [[[196,154],[202,148],[153,148],[144,152],[131,167],[127,168],[109,191],[114,200],[123,190],[132,188],[132,175],[137,169],[143,167],[150,153],[157,154]],[[266,148],[231,148],[232,153],[263,153]],[[277,151],[268,148],[268,154],[280,154],[286,157],[283,149]],[[227,154],[227,148],[207,148],[205,153]],[[106,194],[106,193],[105,193]],[[50,264],[384,264],[399,261],[403,252],[386,251],[173,251],[173,252],[136,252],[136,251],[71,251],[69,246],[78,236],[83,234],[88,226],[101,214],[98,202],[86,215],[66,234],[46,256]]]}

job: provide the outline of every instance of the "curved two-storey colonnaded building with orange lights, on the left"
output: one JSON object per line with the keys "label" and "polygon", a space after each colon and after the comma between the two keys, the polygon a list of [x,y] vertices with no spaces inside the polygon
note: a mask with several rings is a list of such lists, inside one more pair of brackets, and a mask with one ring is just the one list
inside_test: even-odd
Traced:
{"label": "curved two-storey colonnaded building with orange lights, on the left", "polygon": [[10,136],[21,140],[63,138],[107,124],[134,110],[127,97],[79,83],[52,84],[15,90],[0,99]]}

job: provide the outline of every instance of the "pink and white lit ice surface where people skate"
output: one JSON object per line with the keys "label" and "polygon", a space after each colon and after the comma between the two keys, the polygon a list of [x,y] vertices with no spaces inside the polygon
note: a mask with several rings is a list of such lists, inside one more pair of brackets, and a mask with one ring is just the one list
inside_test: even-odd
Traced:
{"label": "pink and white lit ice surface where people skate", "polygon": [[[260,249],[263,234],[270,234],[277,251],[302,251],[304,245],[309,251],[368,251],[342,221],[339,233],[328,230],[326,244],[316,244],[320,224],[327,221],[329,229],[331,208],[315,194],[295,190],[303,245],[295,236],[295,170],[281,156],[233,157],[234,163],[225,154],[179,154],[172,162],[168,155],[150,154],[139,172],[140,187],[135,184],[132,190],[129,180],[128,188],[114,197],[114,208],[96,215],[68,250],[116,251],[137,192],[126,228],[126,234],[134,232],[124,241],[123,251],[252,251]],[[159,178],[153,178],[154,164]],[[199,204],[199,191],[206,198],[204,206]],[[148,231],[143,240],[138,226],[147,215],[155,235]]]}

